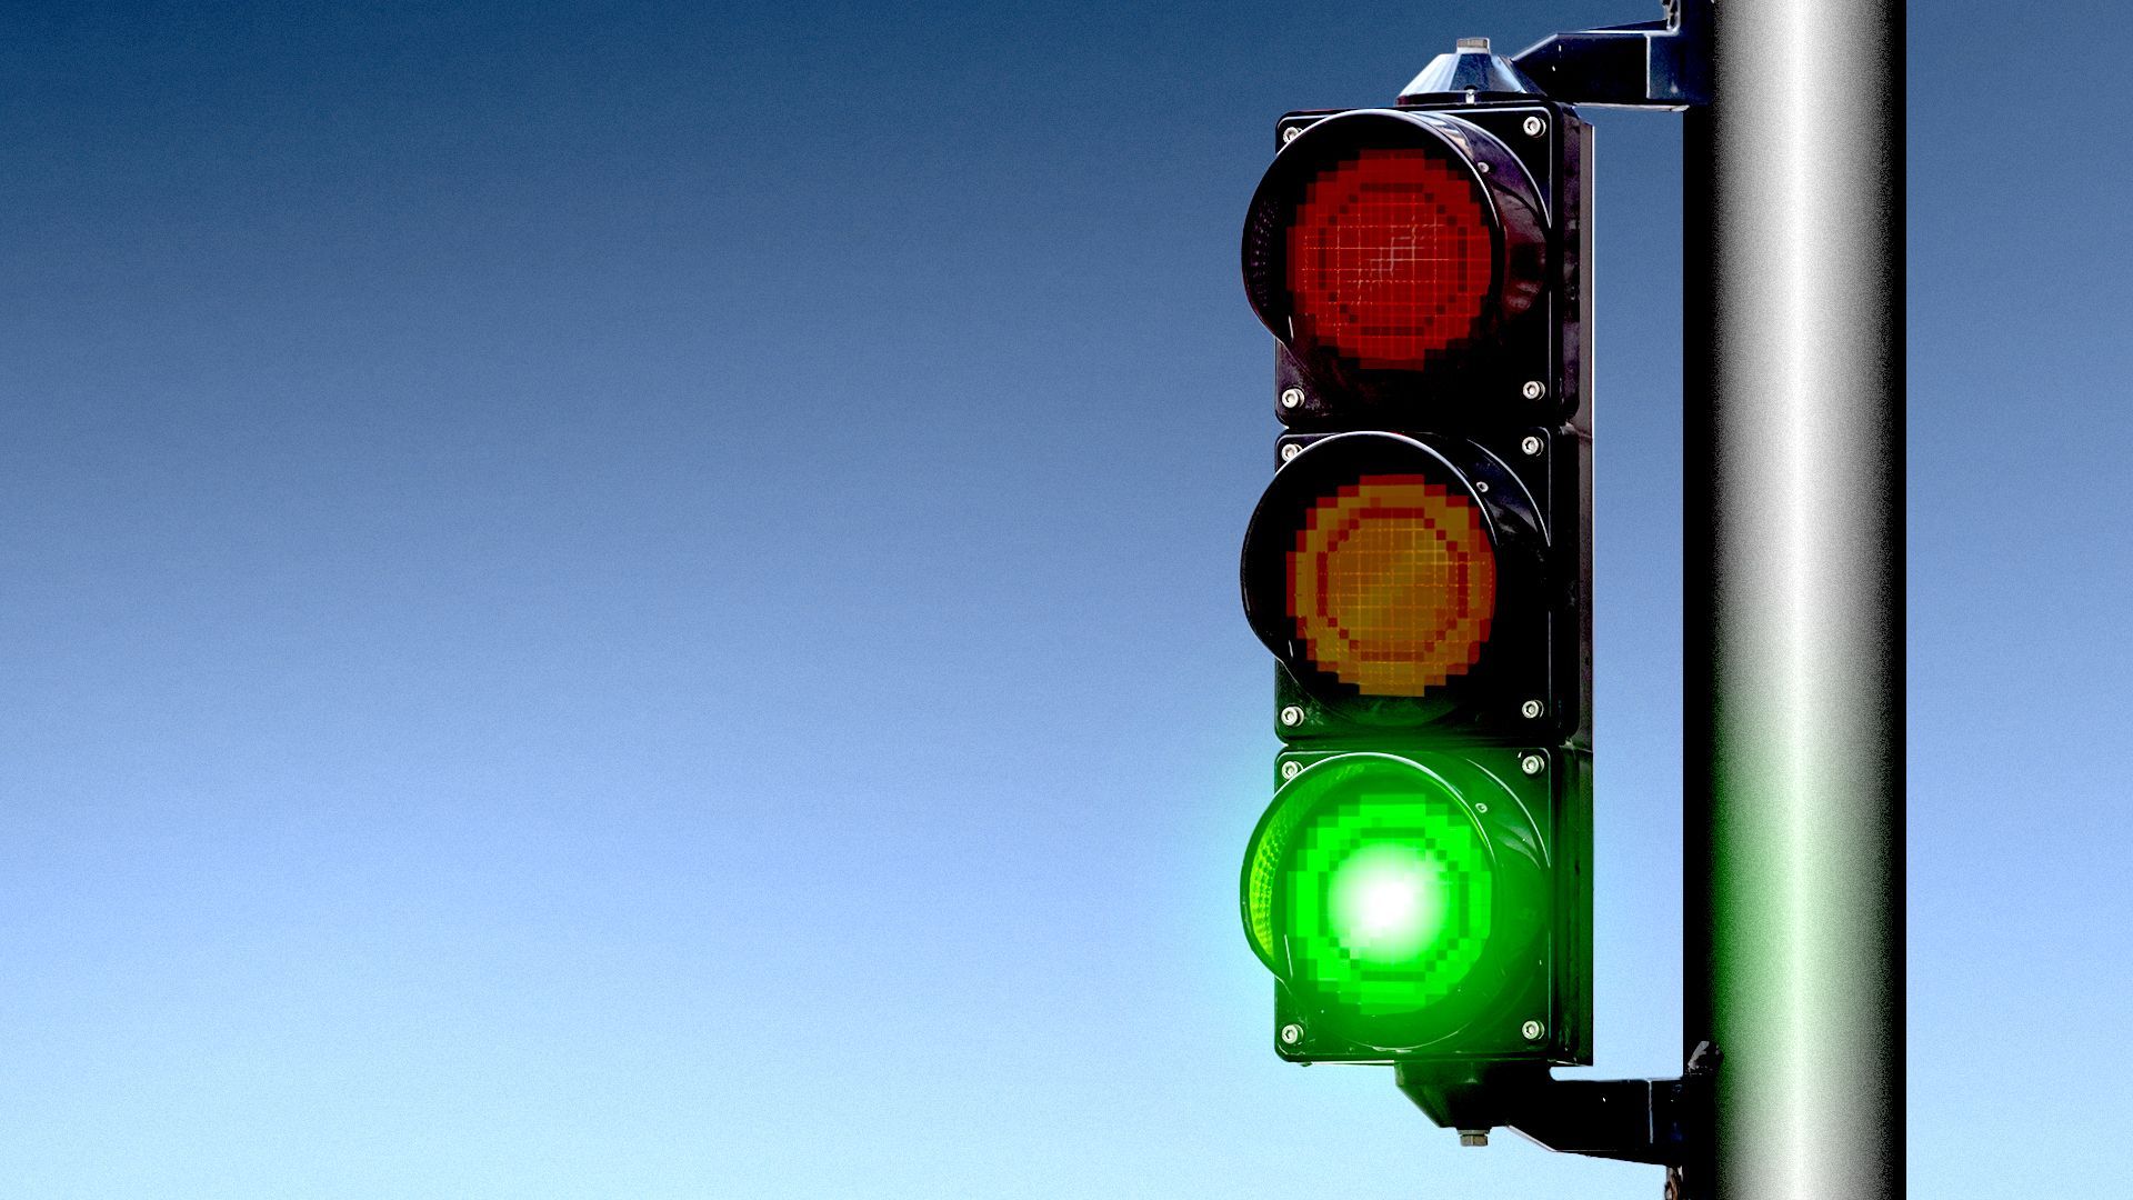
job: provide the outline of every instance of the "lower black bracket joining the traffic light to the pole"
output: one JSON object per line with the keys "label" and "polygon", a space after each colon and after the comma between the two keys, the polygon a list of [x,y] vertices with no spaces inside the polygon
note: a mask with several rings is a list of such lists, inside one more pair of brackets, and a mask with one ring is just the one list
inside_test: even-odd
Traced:
{"label": "lower black bracket joining the traffic light to the pole", "polygon": [[1679,1168],[1709,1153],[1717,1070],[1702,1042],[1681,1078],[1553,1078],[1531,1063],[1399,1063],[1395,1078],[1470,1144],[1506,1125],[1551,1151]]}

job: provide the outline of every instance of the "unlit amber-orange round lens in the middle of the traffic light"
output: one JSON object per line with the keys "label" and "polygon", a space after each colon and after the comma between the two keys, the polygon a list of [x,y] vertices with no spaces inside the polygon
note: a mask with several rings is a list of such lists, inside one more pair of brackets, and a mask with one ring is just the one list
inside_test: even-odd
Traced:
{"label": "unlit amber-orange round lens in the middle of the traffic light", "polygon": [[1480,662],[1495,549],[1468,495],[1421,474],[1365,474],[1301,517],[1288,617],[1308,666],[1363,696],[1421,696]]}

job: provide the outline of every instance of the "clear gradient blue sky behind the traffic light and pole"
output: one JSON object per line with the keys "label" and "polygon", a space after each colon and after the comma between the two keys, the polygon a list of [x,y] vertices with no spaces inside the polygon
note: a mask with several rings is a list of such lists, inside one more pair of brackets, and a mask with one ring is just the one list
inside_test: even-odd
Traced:
{"label": "clear gradient blue sky behind the traffic light and pole", "polygon": [[[1278,1063],[1235,916],[1271,122],[1655,13],[11,9],[0,1191],[1655,1196]],[[2001,13],[1911,17],[1920,1196],[2133,1174],[2129,47]],[[1668,1074],[1679,137],[1595,120],[1598,1072]]]}

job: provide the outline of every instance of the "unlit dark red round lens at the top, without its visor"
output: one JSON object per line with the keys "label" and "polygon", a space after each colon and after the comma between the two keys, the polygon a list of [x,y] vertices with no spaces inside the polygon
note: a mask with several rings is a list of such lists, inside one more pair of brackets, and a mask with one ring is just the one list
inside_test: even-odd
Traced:
{"label": "unlit dark red round lens at the top, without its visor", "polygon": [[1367,147],[1303,186],[1286,260],[1297,342],[1365,369],[1423,369],[1474,337],[1495,250],[1470,171]]}

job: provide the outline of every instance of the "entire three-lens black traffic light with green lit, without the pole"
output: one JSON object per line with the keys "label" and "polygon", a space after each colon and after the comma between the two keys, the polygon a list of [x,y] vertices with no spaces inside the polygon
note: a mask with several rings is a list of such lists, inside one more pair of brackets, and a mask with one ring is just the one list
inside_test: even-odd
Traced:
{"label": "entire three-lens black traffic light with green lit, without the pole", "polygon": [[1446,60],[1284,115],[1246,216],[1286,429],[1241,557],[1284,741],[1244,927],[1286,1059],[1589,1063],[1591,126]]}

